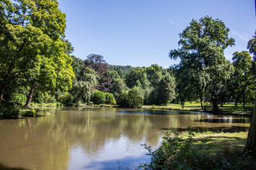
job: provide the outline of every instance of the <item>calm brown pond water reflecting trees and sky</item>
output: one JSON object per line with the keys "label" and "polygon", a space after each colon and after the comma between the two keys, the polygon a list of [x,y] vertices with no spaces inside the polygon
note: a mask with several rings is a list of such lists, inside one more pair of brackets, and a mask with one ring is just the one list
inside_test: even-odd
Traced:
{"label": "calm brown pond water reflecting trees and sky", "polygon": [[[0,120],[0,169],[136,169],[169,128],[248,129],[248,118],[139,109],[56,109]],[[46,111],[44,111],[44,114]]]}

